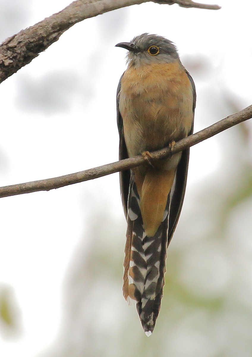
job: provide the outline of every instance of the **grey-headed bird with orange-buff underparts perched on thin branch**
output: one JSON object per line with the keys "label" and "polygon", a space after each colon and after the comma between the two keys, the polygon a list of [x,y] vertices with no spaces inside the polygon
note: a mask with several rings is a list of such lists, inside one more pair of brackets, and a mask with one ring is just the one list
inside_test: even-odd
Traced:
{"label": "grey-headed bird with orange-buff underparts perched on thin branch", "polygon": [[[128,67],[117,88],[119,160],[143,155],[145,164],[120,172],[127,232],[123,296],[135,301],[146,336],[154,330],[166,272],[166,251],[185,195],[189,149],[172,155],[174,142],[193,132],[196,91],[174,43],[142,34],[117,47]],[[170,146],[166,159],[151,151]]]}

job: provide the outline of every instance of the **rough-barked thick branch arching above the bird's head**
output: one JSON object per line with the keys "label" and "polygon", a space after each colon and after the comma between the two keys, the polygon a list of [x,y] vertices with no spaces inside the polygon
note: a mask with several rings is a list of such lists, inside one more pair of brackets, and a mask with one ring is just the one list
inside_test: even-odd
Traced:
{"label": "rough-barked thick branch arching above the bird's head", "polygon": [[[0,45],[0,83],[17,72],[32,59],[79,21],[97,16],[111,10],[150,0],[77,0],[65,9],[47,17],[36,25],[20,31],[7,38]],[[201,7],[203,9],[220,9],[218,5],[204,5],[191,0],[152,0],[159,4],[174,3],[184,7]]]}

